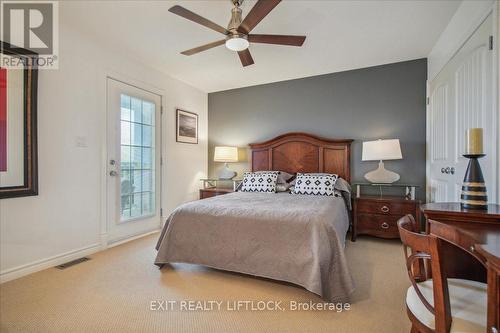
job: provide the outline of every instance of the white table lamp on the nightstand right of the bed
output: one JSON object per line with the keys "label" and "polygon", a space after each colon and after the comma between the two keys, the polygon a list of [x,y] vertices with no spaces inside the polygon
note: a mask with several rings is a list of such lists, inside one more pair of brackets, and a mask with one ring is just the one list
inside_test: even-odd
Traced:
{"label": "white table lamp on the nightstand right of the bed", "polygon": [[401,146],[399,139],[375,140],[363,142],[361,160],[379,161],[378,169],[365,174],[366,180],[371,183],[390,184],[399,180],[399,174],[384,168],[385,160],[400,160]]}

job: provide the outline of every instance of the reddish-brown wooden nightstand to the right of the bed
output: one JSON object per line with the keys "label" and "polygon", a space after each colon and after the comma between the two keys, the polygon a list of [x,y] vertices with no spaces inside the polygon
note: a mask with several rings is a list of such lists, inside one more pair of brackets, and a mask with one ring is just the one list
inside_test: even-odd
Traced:
{"label": "reddish-brown wooden nightstand to the right of the bed", "polygon": [[397,221],[411,214],[419,221],[418,200],[392,196],[360,196],[354,198],[351,240],[358,235],[399,238]]}

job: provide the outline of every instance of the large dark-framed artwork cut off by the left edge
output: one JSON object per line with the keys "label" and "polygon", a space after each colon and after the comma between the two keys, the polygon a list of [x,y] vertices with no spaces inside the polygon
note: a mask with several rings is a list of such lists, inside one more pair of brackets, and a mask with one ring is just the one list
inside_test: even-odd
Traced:
{"label": "large dark-framed artwork cut off by the left edge", "polygon": [[37,85],[32,51],[1,43],[0,64],[0,199],[38,194]]}

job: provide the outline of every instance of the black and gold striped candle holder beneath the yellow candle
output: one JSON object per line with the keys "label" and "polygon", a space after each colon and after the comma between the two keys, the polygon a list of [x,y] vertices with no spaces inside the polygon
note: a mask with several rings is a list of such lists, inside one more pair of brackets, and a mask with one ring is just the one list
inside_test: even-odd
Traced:
{"label": "black and gold striped candle holder beneath the yellow candle", "polygon": [[483,172],[477,160],[484,155],[464,155],[469,158],[465,172],[460,204],[465,209],[488,209],[488,196],[484,184]]}

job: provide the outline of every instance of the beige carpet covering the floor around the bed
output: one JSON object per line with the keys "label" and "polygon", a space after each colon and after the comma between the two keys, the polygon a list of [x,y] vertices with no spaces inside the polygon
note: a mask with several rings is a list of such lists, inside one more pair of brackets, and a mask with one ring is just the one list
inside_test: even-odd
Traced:
{"label": "beige carpet covering the floor around the bed", "polygon": [[[290,311],[289,301],[321,300],[290,284],[196,265],[153,265],[158,236],[0,286],[1,332],[408,332],[409,280],[401,244],[368,237],[347,242],[357,290],[351,309]],[[151,311],[154,300],[179,301]],[[221,310],[181,311],[180,301],[222,301]],[[232,311],[231,301],[281,301],[285,311]],[[206,303],[208,304],[208,303]],[[214,304],[214,303],[213,303]],[[253,303],[256,306],[256,302]],[[262,303],[261,303],[262,304]]]}

